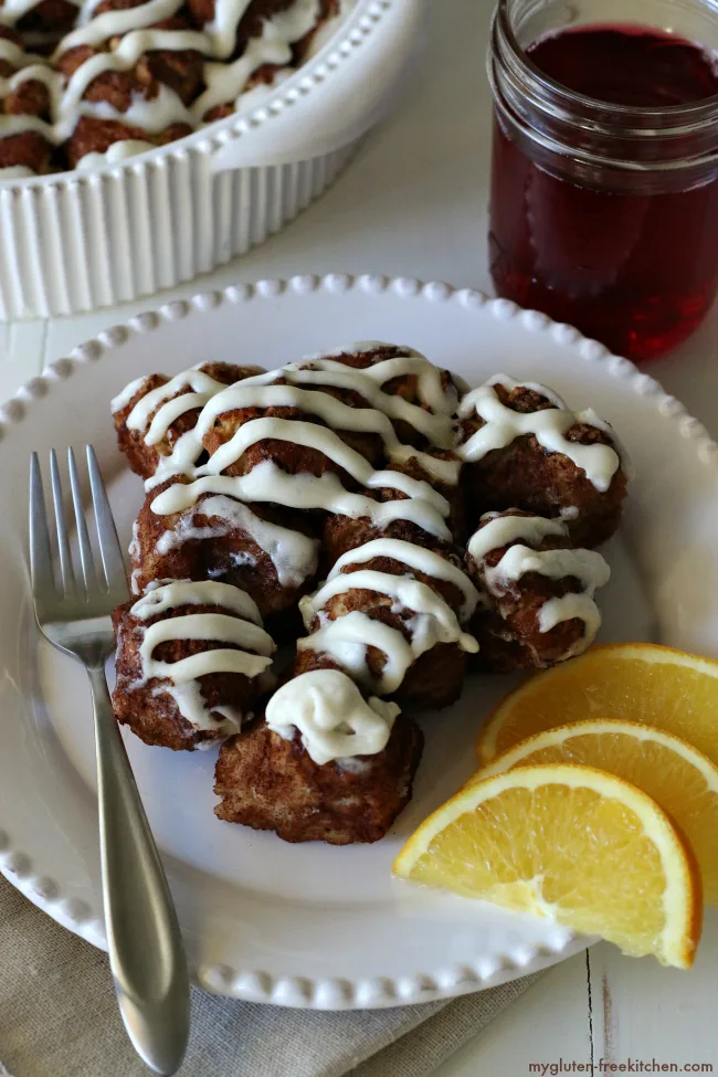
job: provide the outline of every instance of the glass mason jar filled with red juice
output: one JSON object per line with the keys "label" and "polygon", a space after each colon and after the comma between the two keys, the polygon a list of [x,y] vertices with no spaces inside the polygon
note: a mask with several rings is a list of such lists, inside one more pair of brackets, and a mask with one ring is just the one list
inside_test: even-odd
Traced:
{"label": "glass mason jar filled with red juice", "polygon": [[[562,43],[574,49],[571,32],[587,27],[619,31],[612,41],[661,32],[711,96],[615,103],[532,62],[531,45],[553,35],[555,47],[567,32]],[[585,49],[585,30],[580,36]],[[567,56],[588,63],[590,50]],[[717,56],[718,0],[499,0],[488,57],[489,257],[499,295],[634,360],[662,355],[700,324],[718,291]],[[600,59],[604,85],[630,85],[625,56],[613,68]],[[679,68],[671,60],[668,80]]]}

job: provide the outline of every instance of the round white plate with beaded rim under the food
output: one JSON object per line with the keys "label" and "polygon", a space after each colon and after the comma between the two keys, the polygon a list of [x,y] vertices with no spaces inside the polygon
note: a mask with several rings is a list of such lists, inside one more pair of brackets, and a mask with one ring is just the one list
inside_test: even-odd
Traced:
{"label": "round white plate with beaded rim under the food", "polygon": [[[615,424],[637,481],[608,556],[604,638],[718,653],[718,446],[648,376],[505,300],[415,281],[331,275],[172,303],[60,360],[0,410],[6,551],[0,603],[0,868],[60,923],[103,946],[89,697],[83,669],[39,638],[25,570],[31,450],[92,442],[125,539],[142,498],[115,447],[109,399],[202,359],[273,367],[353,339],[406,342],[477,383],[542,380]],[[630,552],[629,552],[630,551]],[[563,929],[391,879],[402,841],[474,765],[482,715],[507,682],[475,679],[422,724],[414,799],[371,846],[286,845],[212,814],[213,752],[126,743],[163,853],[189,953],[209,990],[315,1009],[447,997],[588,944]]]}

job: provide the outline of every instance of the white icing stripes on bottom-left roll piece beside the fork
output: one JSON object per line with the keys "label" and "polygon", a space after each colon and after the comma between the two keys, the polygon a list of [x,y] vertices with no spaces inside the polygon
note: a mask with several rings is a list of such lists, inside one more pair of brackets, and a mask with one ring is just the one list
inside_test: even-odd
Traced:
{"label": "white icing stripes on bottom-left roll piece beside the fork", "polygon": [[[130,609],[139,621],[147,621],[167,610],[183,605],[219,605],[226,613],[194,613],[169,617],[148,625],[142,634],[139,656],[142,675],[135,687],[159,677],[170,682],[169,687],[157,689],[173,697],[180,714],[197,729],[232,732],[239,728],[242,716],[232,708],[219,708],[225,718],[223,726],[212,718],[202,698],[199,678],[208,674],[239,673],[254,678],[272,665],[270,657],[275,650],[272,637],[261,627],[262,621],[254,601],[239,588],[213,580],[190,582],[178,580],[156,587],[142,595]],[[152,657],[160,643],[177,640],[203,640],[231,643],[245,650],[215,647],[181,658],[179,662],[161,662]]]}

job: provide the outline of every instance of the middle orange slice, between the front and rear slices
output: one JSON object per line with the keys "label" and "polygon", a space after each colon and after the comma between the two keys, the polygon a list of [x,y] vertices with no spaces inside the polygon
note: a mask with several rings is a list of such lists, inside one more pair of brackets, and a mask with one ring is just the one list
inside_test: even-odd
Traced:
{"label": "middle orange slice, between the front and rear slices", "polygon": [[547,729],[509,748],[474,774],[536,763],[582,763],[609,771],[652,796],[678,824],[696,854],[704,898],[718,905],[718,767],[671,733],[615,719]]}

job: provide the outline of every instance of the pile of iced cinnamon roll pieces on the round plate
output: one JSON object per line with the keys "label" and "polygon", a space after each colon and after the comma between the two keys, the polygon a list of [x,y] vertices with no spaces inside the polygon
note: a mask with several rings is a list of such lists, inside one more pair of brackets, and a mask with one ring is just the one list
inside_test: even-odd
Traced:
{"label": "pile of iced cinnamon roll pieces on the round plate", "polygon": [[588,547],[629,465],[545,387],[467,392],[367,341],[152,374],[113,412],[146,485],[117,718],[149,745],[220,741],[220,819],[376,841],[411,795],[413,714],[454,703],[467,668],[540,668],[595,636],[609,569]]}

